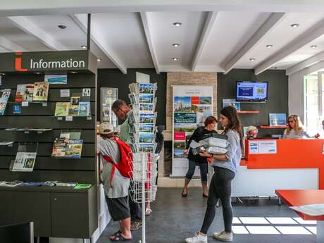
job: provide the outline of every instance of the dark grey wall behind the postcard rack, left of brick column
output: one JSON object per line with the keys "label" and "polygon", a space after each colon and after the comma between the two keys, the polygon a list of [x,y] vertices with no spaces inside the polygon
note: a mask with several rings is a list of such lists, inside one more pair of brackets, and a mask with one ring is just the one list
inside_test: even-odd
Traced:
{"label": "dark grey wall behind the postcard rack, left of brick column", "polygon": [[[136,72],[150,75],[151,82],[158,83],[158,91],[156,96],[158,103],[156,104],[156,111],[158,118],[156,125],[166,125],[166,73],[156,74],[154,68],[128,68],[127,74],[123,74],[119,69],[98,69],[98,114],[100,114],[100,88],[112,87],[118,88],[118,98],[123,99],[129,104],[128,94],[130,89],[128,85],[136,81]],[[100,119],[100,117],[98,116]]]}

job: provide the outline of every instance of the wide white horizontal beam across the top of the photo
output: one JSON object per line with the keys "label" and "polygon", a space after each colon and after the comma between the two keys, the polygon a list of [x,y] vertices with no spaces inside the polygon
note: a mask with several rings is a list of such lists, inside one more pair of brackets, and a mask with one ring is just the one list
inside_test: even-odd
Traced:
{"label": "wide white horizontal beam across the top of the photo", "polygon": [[[311,2],[311,4],[309,3]],[[1,16],[151,11],[324,12],[323,0],[14,0],[1,1]]]}

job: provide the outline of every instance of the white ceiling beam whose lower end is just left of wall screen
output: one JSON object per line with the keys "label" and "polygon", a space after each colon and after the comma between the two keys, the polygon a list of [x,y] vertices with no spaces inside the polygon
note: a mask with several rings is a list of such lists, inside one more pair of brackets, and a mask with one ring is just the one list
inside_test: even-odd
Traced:
{"label": "white ceiling beam whose lower end is just left of wall screen", "polygon": [[266,34],[280,23],[284,16],[285,13],[271,13],[270,17],[263,23],[263,25],[261,25],[261,27],[258,28],[258,30],[256,30],[247,43],[245,43],[244,46],[242,46],[242,48],[237,51],[237,53],[227,63],[225,63],[225,74],[229,73],[245,54],[254,49],[254,47],[264,39]]}

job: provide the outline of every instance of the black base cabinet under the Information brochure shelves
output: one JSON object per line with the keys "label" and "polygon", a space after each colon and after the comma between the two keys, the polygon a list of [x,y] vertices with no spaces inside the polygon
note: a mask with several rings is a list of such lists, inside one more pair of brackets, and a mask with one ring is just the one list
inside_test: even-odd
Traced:
{"label": "black base cabinet under the Information brochure shelves", "polygon": [[90,238],[98,227],[96,186],[0,187],[0,199],[0,225],[33,221],[37,237]]}

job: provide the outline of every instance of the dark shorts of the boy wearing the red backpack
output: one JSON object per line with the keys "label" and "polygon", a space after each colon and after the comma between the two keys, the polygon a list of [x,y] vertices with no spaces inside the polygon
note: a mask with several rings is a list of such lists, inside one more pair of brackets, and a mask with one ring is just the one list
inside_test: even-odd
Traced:
{"label": "dark shorts of the boy wearing the red backpack", "polygon": [[128,196],[111,199],[106,197],[108,211],[113,221],[119,221],[130,218],[130,206],[128,204]]}

